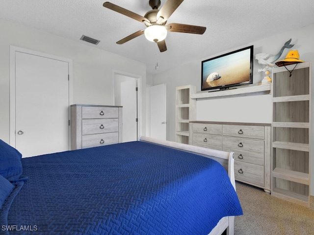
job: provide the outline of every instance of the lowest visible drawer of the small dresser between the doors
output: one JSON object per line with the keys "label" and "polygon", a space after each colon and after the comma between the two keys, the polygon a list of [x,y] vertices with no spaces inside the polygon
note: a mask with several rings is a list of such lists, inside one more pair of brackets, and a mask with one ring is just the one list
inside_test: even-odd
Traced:
{"label": "lowest visible drawer of the small dresser between the doors", "polygon": [[82,148],[98,147],[118,142],[118,132],[82,136]]}

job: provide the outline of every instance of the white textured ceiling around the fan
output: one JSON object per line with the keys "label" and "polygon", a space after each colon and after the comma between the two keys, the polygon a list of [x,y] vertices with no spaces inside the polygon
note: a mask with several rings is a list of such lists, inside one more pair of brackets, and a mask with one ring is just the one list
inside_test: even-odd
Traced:
{"label": "white textured ceiling around the fan", "polygon": [[[203,35],[169,32],[168,49],[160,53],[144,35],[117,45],[145,25],[103,7],[104,2],[0,0],[0,18],[143,62],[150,74],[314,23],[314,0],[185,0],[168,23],[200,25],[207,30]],[[151,10],[149,0],[110,2],[141,16]],[[101,42],[94,46],[80,41],[83,34]]]}

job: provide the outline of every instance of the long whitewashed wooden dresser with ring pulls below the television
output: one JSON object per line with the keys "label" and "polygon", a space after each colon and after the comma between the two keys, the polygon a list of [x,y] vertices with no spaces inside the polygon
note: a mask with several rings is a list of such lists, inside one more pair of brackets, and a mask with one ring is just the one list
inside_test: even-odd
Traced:
{"label": "long whitewashed wooden dresser with ring pulls below the television", "polygon": [[189,125],[189,144],[235,152],[235,180],[270,193],[270,123],[190,121]]}

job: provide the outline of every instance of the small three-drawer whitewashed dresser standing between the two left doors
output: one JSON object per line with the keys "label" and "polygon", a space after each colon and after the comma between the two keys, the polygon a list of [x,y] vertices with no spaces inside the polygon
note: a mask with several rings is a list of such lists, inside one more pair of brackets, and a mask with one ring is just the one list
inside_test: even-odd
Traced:
{"label": "small three-drawer whitewashed dresser standing between the two left doors", "polygon": [[71,105],[72,150],[122,142],[122,106]]}

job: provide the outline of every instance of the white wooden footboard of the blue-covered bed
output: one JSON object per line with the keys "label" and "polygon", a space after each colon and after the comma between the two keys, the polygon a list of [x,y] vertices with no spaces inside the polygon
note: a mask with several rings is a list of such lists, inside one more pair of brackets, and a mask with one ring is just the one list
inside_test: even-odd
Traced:
{"label": "white wooden footboard of the blue-covered bed", "polygon": [[[224,152],[209,148],[203,148],[183,143],[177,143],[172,141],[157,140],[150,137],[140,136],[139,141],[145,141],[150,143],[156,143],[172,148],[177,148],[183,151],[192,152],[198,155],[202,155],[208,158],[212,158],[222,164],[228,172],[231,184],[235,188],[235,172],[234,172],[234,152]],[[227,235],[234,235],[234,221],[235,216],[226,216],[219,220],[217,225],[211,230],[209,235],[221,235],[227,229]]]}

